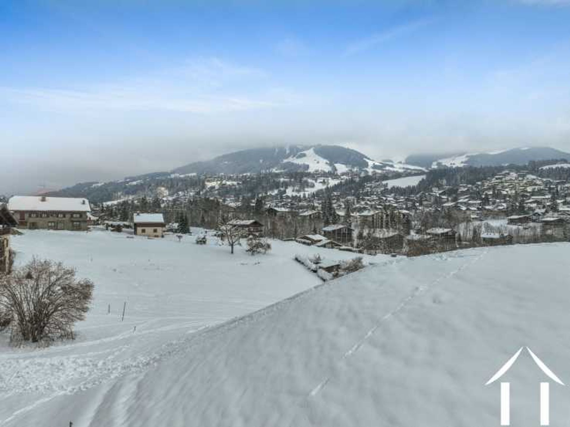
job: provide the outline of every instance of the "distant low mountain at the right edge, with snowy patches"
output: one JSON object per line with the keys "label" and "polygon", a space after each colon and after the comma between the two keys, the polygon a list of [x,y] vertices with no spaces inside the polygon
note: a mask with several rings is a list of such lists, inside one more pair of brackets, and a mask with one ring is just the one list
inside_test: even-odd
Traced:
{"label": "distant low mountain at the right edge, with snowy patches", "polygon": [[406,163],[435,169],[462,166],[526,165],[530,161],[554,159],[570,159],[570,153],[550,147],[526,147],[487,153],[454,153],[446,157],[429,154],[415,155],[408,156]]}

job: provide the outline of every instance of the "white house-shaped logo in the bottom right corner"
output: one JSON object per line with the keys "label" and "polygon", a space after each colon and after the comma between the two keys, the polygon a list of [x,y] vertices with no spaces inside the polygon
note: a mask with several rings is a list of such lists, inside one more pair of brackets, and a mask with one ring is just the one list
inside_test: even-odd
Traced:
{"label": "white house-shaped logo in the bottom right corner", "polygon": [[[519,348],[519,351],[507,360],[507,363],[505,363],[485,385],[494,383],[507,373],[516,359],[519,358],[520,353],[525,349],[531,355],[532,360],[534,360],[536,365],[549,379],[557,384],[564,385],[559,377],[528,347]],[[500,425],[511,425],[511,383],[500,383]],[[540,425],[550,425],[550,383],[540,383]]]}

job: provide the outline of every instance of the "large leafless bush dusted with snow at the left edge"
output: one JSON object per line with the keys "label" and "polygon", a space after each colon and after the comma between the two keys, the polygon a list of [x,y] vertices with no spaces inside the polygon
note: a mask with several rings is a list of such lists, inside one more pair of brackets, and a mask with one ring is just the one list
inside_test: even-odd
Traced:
{"label": "large leafless bush dusted with snow at the left edge", "polygon": [[49,260],[34,258],[0,276],[0,313],[11,320],[13,337],[25,341],[72,338],[92,295],[91,280],[77,280],[74,269]]}

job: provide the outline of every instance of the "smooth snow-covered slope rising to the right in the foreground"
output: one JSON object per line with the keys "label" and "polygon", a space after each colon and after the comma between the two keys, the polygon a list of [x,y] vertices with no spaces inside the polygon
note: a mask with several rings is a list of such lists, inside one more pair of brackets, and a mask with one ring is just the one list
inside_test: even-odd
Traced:
{"label": "smooth snow-covered slope rising to the right in the foreground", "polygon": [[[85,389],[48,387],[74,375],[58,364],[58,348],[50,349],[50,365],[38,367],[50,372],[50,381],[25,391],[16,385],[44,355],[24,352],[22,363],[2,356],[0,372],[13,387],[0,396],[0,420],[7,426],[44,420],[137,427],[499,425],[499,384],[484,384],[520,347],[528,345],[560,379],[570,379],[569,250],[555,243],[384,261],[179,335],[144,367]],[[152,336],[124,343],[141,340],[150,347]],[[103,344],[90,351],[97,360],[112,356]],[[548,378],[524,353],[504,380],[512,384],[512,425],[539,425],[538,387]],[[568,420],[568,401],[568,387],[552,383],[551,425]]]}

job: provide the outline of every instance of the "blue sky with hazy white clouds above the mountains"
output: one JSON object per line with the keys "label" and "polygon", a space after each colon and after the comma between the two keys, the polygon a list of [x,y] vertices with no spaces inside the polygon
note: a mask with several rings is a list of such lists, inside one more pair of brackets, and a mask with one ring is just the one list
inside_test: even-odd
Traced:
{"label": "blue sky with hazy white clouds above the mountains", "polygon": [[260,145],[570,151],[568,22],[570,0],[2,1],[0,193]]}

